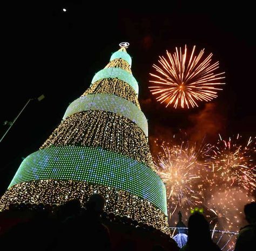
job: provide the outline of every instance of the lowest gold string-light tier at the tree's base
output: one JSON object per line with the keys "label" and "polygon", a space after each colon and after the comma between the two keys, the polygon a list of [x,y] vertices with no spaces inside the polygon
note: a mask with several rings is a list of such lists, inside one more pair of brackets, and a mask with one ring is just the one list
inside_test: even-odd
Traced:
{"label": "lowest gold string-light tier at the tree's base", "polygon": [[42,202],[60,205],[72,199],[79,199],[84,206],[93,193],[104,196],[106,199],[104,210],[107,213],[126,215],[170,234],[167,216],[149,201],[118,189],[80,181],[38,180],[19,183],[2,196],[0,211],[8,209],[10,203]]}

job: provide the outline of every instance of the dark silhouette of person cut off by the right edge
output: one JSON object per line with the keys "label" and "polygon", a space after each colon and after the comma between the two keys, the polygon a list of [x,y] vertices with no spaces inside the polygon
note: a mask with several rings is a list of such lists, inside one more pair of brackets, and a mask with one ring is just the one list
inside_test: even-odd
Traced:
{"label": "dark silhouette of person cut off by the right edge", "polygon": [[244,213],[249,224],[240,229],[234,251],[255,250],[256,247],[256,202],[246,204]]}

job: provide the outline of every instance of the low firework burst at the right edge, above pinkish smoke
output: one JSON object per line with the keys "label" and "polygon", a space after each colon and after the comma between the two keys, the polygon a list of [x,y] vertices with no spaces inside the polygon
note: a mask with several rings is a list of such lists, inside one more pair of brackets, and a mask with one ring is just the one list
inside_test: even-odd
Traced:
{"label": "low firework burst at the right edge, above pinkish smoke", "polygon": [[[255,138],[254,138],[255,139]],[[255,188],[256,168],[254,162],[255,140],[250,137],[241,144],[241,136],[220,140],[206,154],[206,165],[211,169],[212,188],[232,188],[234,186],[252,192]]]}

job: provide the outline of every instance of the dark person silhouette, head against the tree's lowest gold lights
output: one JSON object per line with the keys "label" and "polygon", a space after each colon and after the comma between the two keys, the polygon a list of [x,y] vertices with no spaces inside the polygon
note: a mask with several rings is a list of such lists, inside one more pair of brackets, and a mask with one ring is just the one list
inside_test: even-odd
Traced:
{"label": "dark person silhouette, head against the tree's lowest gold lights", "polygon": [[[76,203],[71,205],[76,205]],[[105,198],[92,194],[85,204],[85,209],[69,210],[75,215],[63,222],[63,229],[58,239],[57,250],[93,250],[110,251],[111,240],[109,229],[103,225],[100,215],[104,211]],[[71,209],[74,207],[72,206]],[[76,207],[75,207],[76,208]]]}

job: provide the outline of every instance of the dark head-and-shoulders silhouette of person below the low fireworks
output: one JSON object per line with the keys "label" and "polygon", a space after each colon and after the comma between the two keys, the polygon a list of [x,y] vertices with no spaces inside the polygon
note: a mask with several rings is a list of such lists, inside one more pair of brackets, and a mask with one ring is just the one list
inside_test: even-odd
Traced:
{"label": "dark head-and-shoulders silhouette of person below the low fireworks", "polygon": [[194,213],[188,219],[187,243],[181,251],[220,251],[212,241],[209,223],[201,213]]}

